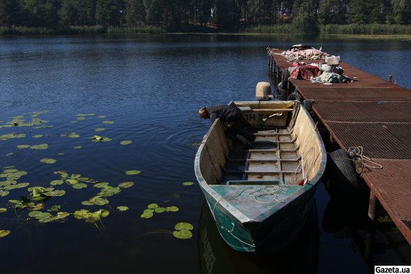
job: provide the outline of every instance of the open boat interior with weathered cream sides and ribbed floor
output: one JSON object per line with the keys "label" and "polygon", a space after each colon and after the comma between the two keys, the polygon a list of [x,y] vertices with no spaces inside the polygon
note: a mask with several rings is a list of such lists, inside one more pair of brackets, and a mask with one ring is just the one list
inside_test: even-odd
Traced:
{"label": "open boat interior with weathered cream sides and ribbed floor", "polygon": [[302,185],[320,165],[318,136],[300,104],[279,101],[235,102],[244,128],[256,137],[244,144],[226,137],[226,123],[217,119],[206,135],[201,173],[210,185]]}

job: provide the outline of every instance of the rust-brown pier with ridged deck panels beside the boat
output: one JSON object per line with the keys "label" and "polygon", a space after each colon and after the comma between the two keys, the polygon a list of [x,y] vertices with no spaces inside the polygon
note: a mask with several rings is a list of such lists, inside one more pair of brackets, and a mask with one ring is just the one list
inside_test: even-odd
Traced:
{"label": "rust-brown pier with ridged deck panels beside the boat", "polygon": [[[267,50],[270,73],[279,79],[291,64],[283,50]],[[291,92],[312,101],[313,114],[341,149],[362,146],[364,155],[382,166],[362,172],[371,190],[369,218],[374,221],[378,200],[411,245],[411,91],[347,63],[339,66],[355,81],[326,85],[290,79]]]}

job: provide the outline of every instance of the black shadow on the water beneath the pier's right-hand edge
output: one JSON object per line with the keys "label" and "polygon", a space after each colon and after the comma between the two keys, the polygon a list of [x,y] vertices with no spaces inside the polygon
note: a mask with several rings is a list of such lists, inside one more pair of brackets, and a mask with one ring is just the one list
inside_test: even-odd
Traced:
{"label": "black shadow on the water beneath the pier's right-hand edge", "polygon": [[330,199],[323,212],[322,231],[332,235],[334,243],[350,241],[371,273],[375,265],[409,265],[411,246],[380,204],[375,207],[375,222],[369,219],[369,189],[352,192],[352,185],[337,183],[335,175],[328,170],[323,178]]}

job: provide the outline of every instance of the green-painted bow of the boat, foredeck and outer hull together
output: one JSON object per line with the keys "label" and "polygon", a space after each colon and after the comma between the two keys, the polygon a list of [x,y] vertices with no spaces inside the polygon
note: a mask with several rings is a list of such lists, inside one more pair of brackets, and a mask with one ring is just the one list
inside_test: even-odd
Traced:
{"label": "green-painted bow of the boat, foredeck and outer hull together", "polygon": [[[284,195],[277,197],[281,202],[269,201],[268,196],[256,201],[255,196],[249,195],[252,192],[258,194],[264,188],[270,189],[268,185],[260,187],[243,185],[240,188],[235,186],[230,189],[224,186],[218,188],[219,185],[212,185],[212,187],[215,192],[225,197],[224,199],[228,199],[230,204],[227,209],[227,206],[219,204],[215,197],[203,189],[217,229],[224,241],[234,250],[242,252],[276,252],[286,248],[300,235],[312,206],[317,183],[304,185],[304,187],[283,186],[281,190],[284,190],[282,191]],[[296,188],[304,188],[304,192],[298,193],[301,191]],[[286,194],[290,196],[286,197]],[[297,199],[293,197],[295,195],[298,195]],[[249,206],[243,206],[244,204]],[[262,207],[265,209],[262,210]],[[246,222],[238,222],[235,213],[232,212],[240,209],[242,213],[254,215],[254,218]],[[261,213],[262,211],[265,212]]]}

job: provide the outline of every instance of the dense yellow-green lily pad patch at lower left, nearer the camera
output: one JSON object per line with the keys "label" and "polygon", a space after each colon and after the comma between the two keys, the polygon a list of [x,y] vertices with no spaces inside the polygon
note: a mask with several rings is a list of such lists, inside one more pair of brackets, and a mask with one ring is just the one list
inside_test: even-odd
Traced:
{"label": "dense yellow-green lily pad patch at lower left, nearer the camera", "polygon": [[[8,190],[14,188],[26,188],[29,183],[17,183],[17,179],[20,176],[26,175],[27,172],[15,169],[15,167],[3,167],[2,173],[0,174],[0,195],[6,196],[9,194]],[[65,190],[56,189],[56,187],[63,187],[63,185],[68,185],[71,188],[81,190],[82,188],[88,188],[92,185],[98,194],[91,197],[88,201],[82,202],[83,205],[87,206],[104,206],[109,204],[107,197],[121,193],[122,189],[131,188],[134,185],[132,181],[126,181],[119,183],[117,186],[111,186],[108,182],[100,182],[91,178],[86,178],[81,174],[71,174],[69,175],[65,171],[54,172],[60,176],[59,179],[53,180],[49,183],[49,186],[33,186],[27,188],[29,192],[28,197],[21,196],[20,200],[10,199],[9,204],[15,210],[28,210],[29,218],[37,220],[38,222],[63,222],[68,216],[73,215],[78,220],[85,220],[86,222],[93,222],[95,227],[100,230],[100,226],[97,221],[101,223],[102,218],[106,218],[109,215],[109,211],[100,208],[98,211],[91,211],[88,209],[80,209],[74,213],[69,213],[61,211],[61,206],[54,204],[49,208],[46,207],[46,203],[49,199],[53,197],[61,197],[65,195]],[[74,190],[73,190],[74,191]],[[47,209],[45,209],[47,208]],[[127,211],[127,206],[118,206],[118,211]],[[7,211],[7,208],[0,208],[0,213]],[[102,223],[101,223],[102,225]],[[102,226],[104,227],[104,226]],[[0,237],[7,236],[10,234],[8,230],[1,230]]]}

